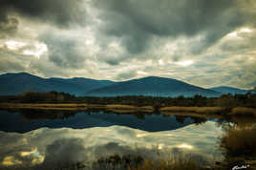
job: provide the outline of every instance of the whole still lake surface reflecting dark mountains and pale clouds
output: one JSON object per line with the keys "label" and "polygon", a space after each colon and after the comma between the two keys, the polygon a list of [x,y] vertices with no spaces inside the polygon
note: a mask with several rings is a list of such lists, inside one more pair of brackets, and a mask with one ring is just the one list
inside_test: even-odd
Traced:
{"label": "whole still lake surface reflecting dark mountains and pale clouds", "polygon": [[218,119],[91,112],[0,111],[0,167],[45,169],[92,162],[114,154],[150,159],[193,154],[222,159]]}

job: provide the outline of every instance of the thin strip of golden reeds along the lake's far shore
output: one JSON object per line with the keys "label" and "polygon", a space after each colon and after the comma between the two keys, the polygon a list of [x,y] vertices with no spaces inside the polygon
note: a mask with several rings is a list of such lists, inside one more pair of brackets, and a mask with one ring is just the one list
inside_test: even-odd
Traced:
{"label": "thin strip of golden reeds along the lake's far shore", "polygon": [[224,116],[250,116],[256,117],[255,108],[235,107],[226,112],[222,107],[160,107],[132,106],[132,105],[96,105],[86,103],[0,103],[0,109],[30,109],[30,110],[58,110],[58,111],[86,111],[91,109],[113,111],[124,114],[158,113],[161,115],[180,115],[193,117],[224,117]]}

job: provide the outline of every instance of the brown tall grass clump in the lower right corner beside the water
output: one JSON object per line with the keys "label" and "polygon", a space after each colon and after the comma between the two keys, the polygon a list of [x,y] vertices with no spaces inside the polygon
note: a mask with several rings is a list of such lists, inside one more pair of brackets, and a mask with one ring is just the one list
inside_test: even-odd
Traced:
{"label": "brown tall grass clump in the lower right corner beside the water", "polygon": [[225,130],[220,139],[224,154],[223,167],[232,169],[246,165],[246,170],[256,169],[256,124],[228,126]]}

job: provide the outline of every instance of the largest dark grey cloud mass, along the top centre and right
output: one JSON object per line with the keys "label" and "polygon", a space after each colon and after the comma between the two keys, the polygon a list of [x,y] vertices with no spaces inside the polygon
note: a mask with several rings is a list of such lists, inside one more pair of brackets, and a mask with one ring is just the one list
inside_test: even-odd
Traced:
{"label": "largest dark grey cloud mass, along the top centre and right", "polygon": [[204,35],[192,53],[201,53],[245,23],[237,0],[95,0],[104,22],[100,31],[121,37],[130,53],[145,51],[152,36]]}

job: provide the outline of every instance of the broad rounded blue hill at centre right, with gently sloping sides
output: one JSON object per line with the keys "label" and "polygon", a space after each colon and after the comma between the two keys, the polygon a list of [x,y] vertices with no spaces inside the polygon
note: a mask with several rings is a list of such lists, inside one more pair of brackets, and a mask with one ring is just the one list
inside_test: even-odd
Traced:
{"label": "broad rounded blue hill at centre right, with gently sloping sides", "polygon": [[85,96],[220,96],[213,90],[203,89],[182,81],[148,76],[94,89]]}

